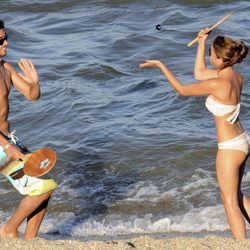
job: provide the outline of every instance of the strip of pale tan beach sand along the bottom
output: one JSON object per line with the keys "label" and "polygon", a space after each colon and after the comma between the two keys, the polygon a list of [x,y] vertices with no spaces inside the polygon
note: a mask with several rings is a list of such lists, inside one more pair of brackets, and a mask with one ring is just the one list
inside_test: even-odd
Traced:
{"label": "strip of pale tan beach sand along the bottom", "polygon": [[221,236],[206,236],[202,238],[176,237],[155,239],[149,236],[141,236],[126,240],[103,241],[77,241],[77,240],[45,240],[36,238],[30,241],[20,239],[1,239],[1,250],[247,250],[250,249],[250,240],[235,241],[232,238]]}

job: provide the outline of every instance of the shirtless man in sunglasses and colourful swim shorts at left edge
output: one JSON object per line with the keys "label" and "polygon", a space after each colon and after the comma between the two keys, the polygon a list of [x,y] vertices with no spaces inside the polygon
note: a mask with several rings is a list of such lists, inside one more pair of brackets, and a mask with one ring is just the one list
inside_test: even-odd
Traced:
{"label": "shirtless man in sunglasses and colourful swim shorts at left edge", "polygon": [[[34,238],[42,223],[51,193],[57,184],[52,179],[29,177],[23,172],[27,149],[9,130],[9,100],[12,87],[27,99],[35,101],[40,97],[37,71],[30,60],[21,59],[22,74],[3,58],[7,55],[8,34],[0,20],[0,171],[24,195],[19,206],[5,225],[0,228],[0,237],[18,238],[18,227],[27,219],[24,239]],[[11,160],[15,164],[11,164]],[[1,206],[1,205],[0,205]]]}

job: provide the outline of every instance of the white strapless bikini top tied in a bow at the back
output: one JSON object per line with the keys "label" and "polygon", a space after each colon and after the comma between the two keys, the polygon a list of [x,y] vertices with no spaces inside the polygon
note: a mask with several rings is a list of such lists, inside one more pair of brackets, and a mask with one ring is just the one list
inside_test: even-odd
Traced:
{"label": "white strapless bikini top tied in a bow at the back", "polygon": [[234,111],[233,114],[226,119],[230,124],[235,123],[240,113],[240,103],[237,105],[222,104],[215,101],[211,95],[207,97],[205,105],[214,116],[224,116]]}

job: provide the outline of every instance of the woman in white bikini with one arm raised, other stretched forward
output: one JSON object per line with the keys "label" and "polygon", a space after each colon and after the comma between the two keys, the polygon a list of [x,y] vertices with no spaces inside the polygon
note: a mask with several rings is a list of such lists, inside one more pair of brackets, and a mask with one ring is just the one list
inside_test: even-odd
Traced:
{"label": "woman in white bikini with one arm raised, other stretched forward", "polygon": [[[209,49],[212,69],[205,62],[208,28],[199,33],[194,74],[198,83],[183,85],[171,71],[158,60],[147,60],[140,67],[158,67],[171,86],[183,96],[208,95],[207,109],[214,115],[217,129],[218,151],[216,174],[223,206],[234,238],[246,239],[244,217],[250,222],[250,200],[240,191],[250,140],[240,124],[240,96],[243,80],[233,65],[240,63],[248,48],[241,41],[217,37]],[[244,217],[243,217],[244,216]]]}

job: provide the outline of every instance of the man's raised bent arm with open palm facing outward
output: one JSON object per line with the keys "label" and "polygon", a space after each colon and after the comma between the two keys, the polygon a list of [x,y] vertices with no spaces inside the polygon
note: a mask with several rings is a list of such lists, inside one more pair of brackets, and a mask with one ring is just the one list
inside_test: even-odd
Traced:
{"label": "man's raised bent arm with open palm facing outward", "polygon": [[17,73],[10,63],[5,63],[5,68],[10,72],[12,84],[27,99],[32,101],[39,99],[40,85],[35,66],[26,59],[21,59],[18,65],[22,73]]}

